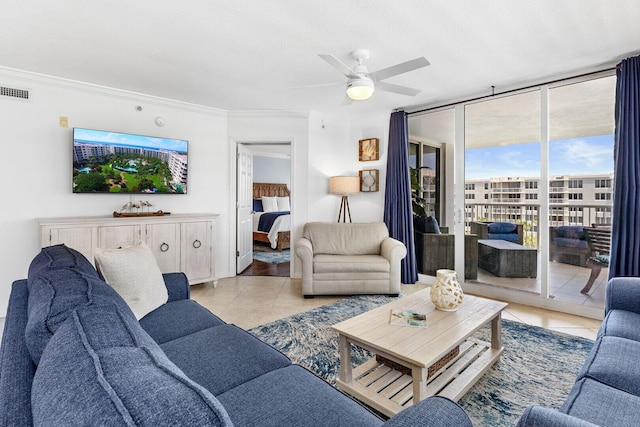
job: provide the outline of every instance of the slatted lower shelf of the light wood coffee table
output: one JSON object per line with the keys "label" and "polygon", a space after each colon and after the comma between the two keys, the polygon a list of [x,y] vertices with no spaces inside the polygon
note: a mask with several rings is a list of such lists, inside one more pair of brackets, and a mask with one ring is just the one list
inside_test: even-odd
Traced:
{"label": "slatted lower shelf of the light wood coffee table", "polygon": [[[503,348],[468,338],[460,351],[444,367],[427,379],[426,397],[439,395],[457,401],[502,355]],[[382,357],[389,357],[381,354]],[[406,362],[405,362],[406,363]],[[410,367],[415,370],[419,367]],[[424,372],[427,372],[424,369]],[[413,405],[413,378],[372,358],[353,369],[352,380],[336,381],[338,389],[387,416],[393,416]]]}

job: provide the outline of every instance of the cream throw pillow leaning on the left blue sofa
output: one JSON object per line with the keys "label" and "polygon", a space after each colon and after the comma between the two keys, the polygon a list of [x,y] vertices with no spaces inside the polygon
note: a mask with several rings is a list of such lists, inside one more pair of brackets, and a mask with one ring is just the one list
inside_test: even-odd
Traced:
{"label": "cream throw pillow leaning on the left blue sofa", "polygon": [[138,320],[169,299],[160,267],[144,242],[122,249],[96,249],[95,261],[102,277]]}

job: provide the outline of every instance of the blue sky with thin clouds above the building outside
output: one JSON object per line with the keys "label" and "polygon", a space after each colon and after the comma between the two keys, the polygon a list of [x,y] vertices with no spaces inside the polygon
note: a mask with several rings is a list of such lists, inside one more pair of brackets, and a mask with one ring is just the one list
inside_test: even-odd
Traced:
{"label": "blue sky with thin clouds above the building outside", "polygon": [[[551,141],[549,174],[613,173],[613,135]],[[540,144],[465,150],[465,179],[540,176]]]}

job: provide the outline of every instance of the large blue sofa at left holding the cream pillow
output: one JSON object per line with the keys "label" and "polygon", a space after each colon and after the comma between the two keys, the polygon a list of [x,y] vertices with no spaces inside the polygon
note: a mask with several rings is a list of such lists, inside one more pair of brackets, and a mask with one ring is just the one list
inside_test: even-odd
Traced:
{"label": "large blue sofa at left holding the cream pillow", "polygon": [[13,283],[0,349],[0,425],[471,426],[432,397],[383,421],[163,275],[136,320],[91,263],[44,248]]}

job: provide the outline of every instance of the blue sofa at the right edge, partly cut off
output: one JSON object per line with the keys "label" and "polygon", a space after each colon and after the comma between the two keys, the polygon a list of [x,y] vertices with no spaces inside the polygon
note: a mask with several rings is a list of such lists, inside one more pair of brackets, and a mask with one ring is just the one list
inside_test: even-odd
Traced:
{"label": "blue sofa at the right edge, partly cut off", "polygon": [[532,406],[518,426],[640,425],[640,278],[607,284],[605,318],[559,410]]}

